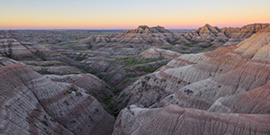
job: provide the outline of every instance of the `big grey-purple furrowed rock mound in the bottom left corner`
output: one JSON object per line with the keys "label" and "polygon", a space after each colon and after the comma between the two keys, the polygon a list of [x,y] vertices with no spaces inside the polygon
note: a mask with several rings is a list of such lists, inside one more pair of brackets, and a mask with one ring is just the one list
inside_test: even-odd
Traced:
{"label": "big grey-purple furrowed rock mound in the bottom left corner", "polygon": [[112,133],[113,117],[94,96],[86,94],[82,88],[86,86],[53,82],[20,63],[3,65],[0,67],[1,133]]}

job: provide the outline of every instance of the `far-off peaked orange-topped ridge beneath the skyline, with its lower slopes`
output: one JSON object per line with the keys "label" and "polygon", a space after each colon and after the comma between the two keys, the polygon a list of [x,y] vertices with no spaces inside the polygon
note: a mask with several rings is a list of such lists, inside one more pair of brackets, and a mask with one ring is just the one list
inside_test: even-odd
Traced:
{"label": "far-off peaked orange-topped ridge beneath the skyline, with its lower slopes", "polygon": [[[80,40],[73,46],[74,49],[99,49],[101,47],[119,46],[127,48],[130,45],[155,45],[158,48],[167,48],[183,53],[197,53],[213,50],[223,45],[237,45],[240,41],[249,38],[269,24],[254,23],[241,28],[218,28],[205,24],[196,31],[168,31],[163,27],[139,26],[135,30],[104,35],[91,35]],[[109,47],[109,46],[108,46]]]}

